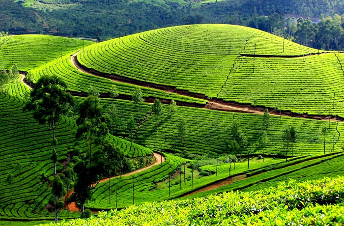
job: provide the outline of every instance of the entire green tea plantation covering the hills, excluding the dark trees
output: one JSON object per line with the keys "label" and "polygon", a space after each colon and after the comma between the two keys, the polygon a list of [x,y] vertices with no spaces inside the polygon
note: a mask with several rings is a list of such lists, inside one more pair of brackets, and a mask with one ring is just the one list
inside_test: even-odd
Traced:
{"label": "entire green tea plantation covering the hills, excluding the dark trees", "polygon": [[[0,37],[1,76],[17,64],[26,77],[5,81],[0,92],[0,225],[54,219],[52,132],[23,111],[43,75],[65,82],[75,102],[57,126],[57,172],[88,158],[76,119],[91,87],[102,113],[113,114],[107,138],[136,166],[92,185],[85,208],[97,216],[71,220],[80,213],[65,205],[60,225],[341,225],[343,56],[232,25],[161,28],[97,44]],[[114,87],[119,95],[111,97]],[[135,103],[138,88],[143,100]],[[246,143],[233,150],[235,123]],[[291,126],[296,136],[287,143]]]}

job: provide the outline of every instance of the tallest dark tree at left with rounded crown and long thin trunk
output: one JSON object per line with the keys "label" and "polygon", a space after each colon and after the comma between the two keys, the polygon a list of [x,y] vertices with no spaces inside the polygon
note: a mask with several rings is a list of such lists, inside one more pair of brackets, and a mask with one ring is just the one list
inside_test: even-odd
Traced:
{"label": "tallest dark tree at left with rounded crown and long thin trunk", "polygon": [[[67,85],[57,76],[43,75],[30,92],[29,101],[23,110],[30,111],[38,123],[45,124],[52,131],[53,154],[56,153],[55,131],[62,115],[73,104],[73,97],[66,92]],[[54,179],[56,178],[56,161],[54,161]],[[55,196],[55,222],[57,223],[57,196]]]}

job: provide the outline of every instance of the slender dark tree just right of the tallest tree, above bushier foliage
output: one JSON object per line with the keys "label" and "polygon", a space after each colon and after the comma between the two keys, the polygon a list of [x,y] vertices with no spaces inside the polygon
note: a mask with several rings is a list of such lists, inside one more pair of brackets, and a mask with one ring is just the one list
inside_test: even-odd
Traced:
{"label": "slender dark tree just right of the tallest tree, above bushier foliage", "polygon": [[92,147],[99,139],[109,133],[109,116],[102,115],[97,96],[90,95],[79,105],[79,117],[77,118],[77,138],[86,138],[88,142],[89,164],[92,165]]}

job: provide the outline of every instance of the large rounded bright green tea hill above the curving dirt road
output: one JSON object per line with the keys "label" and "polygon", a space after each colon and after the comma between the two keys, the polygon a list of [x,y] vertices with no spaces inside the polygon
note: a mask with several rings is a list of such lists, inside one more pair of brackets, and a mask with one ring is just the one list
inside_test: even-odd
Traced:
{"label": "large rounded bright green tea hill above the curving dirt road", "polygon": [[191,25],[92,45],[78,60],[105,74],[172,86],[203,98],[243,104],[256,100],[272,109],[344,116],[338,54],[319,53],[253,28]]}

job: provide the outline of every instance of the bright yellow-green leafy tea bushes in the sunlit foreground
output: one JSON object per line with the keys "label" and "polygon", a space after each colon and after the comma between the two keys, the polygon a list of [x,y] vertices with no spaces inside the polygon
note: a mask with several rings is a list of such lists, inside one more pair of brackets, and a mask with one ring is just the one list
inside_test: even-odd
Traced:
{"label": "bright yellow-green leafy tea bushes in the sunlit foreground", "polygon": [[342,225],[344,178],[323,178],[256,192],[151,202],[59,225]]}

